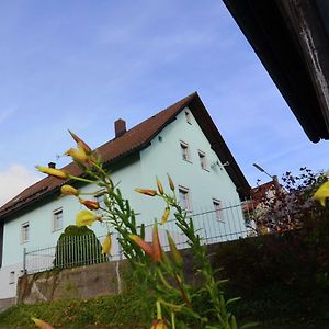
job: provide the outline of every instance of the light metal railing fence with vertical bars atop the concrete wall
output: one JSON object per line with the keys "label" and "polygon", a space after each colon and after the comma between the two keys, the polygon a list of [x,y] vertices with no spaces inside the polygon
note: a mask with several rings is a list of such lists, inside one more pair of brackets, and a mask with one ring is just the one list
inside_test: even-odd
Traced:
{"label": "light metal railing fence with vertical bars atop the concrete wall", "polygon": [[[215,211],[201,209],[197,213],[191,213],[190,217],[205,245],[245,238],[251,232],[250,228],[246,226],[241,204],[227,204]],[[145,227],[146,240],[151,240],[151,230],[152,225]],[[164,251],[169,249],[166,230],[170,231],[178,248],[189,247],[185,236],[177,227],[175,220],[170,219],[166,225],[159,226],[159,237]],[[112,236],[111,256],[101,253],[101,242],[104,238],[105,236],[95,239],[94,235],[67,237],[54,247],[24,249],[24,273],[30,274],[53,268],[73,268],[123,259],[117,234]]]}

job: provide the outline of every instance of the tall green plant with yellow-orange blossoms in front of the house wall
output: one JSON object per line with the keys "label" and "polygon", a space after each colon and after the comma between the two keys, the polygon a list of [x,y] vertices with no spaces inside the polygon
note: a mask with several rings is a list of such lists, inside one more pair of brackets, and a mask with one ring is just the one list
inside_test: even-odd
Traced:
{"label": "tall green plant with yellow-orange blossoms in front of the house wall", "polygon": [[[118,234],[118,242],[132,265],[134,277],[145,286],[145,291],[156,296],[157,316],[151,328],[188,328],[192,322],[197,328],[238,328],[235,316],[228,310],[228,305],[238,298],[225,299],[223,284],[226,281],[216,280],[216,271],[212,268],[206,247],[194,229],[192,218],[189,218],[180,205],[171,177],[168,175],[169,192],[166,192],[158,178],[156,190],[135,190],[148,197],[159,197],[164,203],[160,224],[155,222],[152,227],[152,241],[146,241],[144,224],[137,225],[135,212],[131,208],[129,202],[122,196],[120,189],[114,185],[100,157],[76,134],[71,132],[70,134],[77,143],[77,148],[70,148],[65,155],[72,158],[81,168],[83,175],[71,175],[60,169],[39,166],[36,168],[41,172],[66,181],[60,189],[61,194],[77,197],[77,201],[86,207],[77,215],[77,226],[92,226],[94,222],[102,222],[105,225],[107,234],[102,243],[102,253],[111,253],[111,229]],[[75,181],[94,184],[97,191],[82,193],[71,185]],[[87,195],[99,196],[100,189],[105,206],[84,198]],[[102,212],[94,212],[97,209]],[[186,237],[193,257],[193,271],[200,276],[197,285],[188,282],[183,253],[168,230],[170,252],[166,253],[160,243],[158,226],[166,227],[170,213],[175,218],[177,227]],[[206,310],[196,306],[201,297],[206,298],[209,304]]]}

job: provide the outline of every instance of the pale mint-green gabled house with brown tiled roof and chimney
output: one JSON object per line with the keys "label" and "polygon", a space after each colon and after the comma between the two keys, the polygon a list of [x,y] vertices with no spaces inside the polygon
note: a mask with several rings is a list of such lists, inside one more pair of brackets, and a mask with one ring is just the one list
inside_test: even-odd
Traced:
{"label": "pale mint-green gabled house with brown tiled roof and chimney", "polygon": [[[150,224],[162,215],[160,201],[134,192],[135,188],[155,188],[156,175],[166,185],[170,173],[189,211],[213,207],[218,216],[222,202],[239,204],[239,197],[246,197],[250,190],[197,93],[128,131],[123,120],[116,121],[115,138],[97,151],[124,197],[140,213],[140,223]],[[64,169],[81,174],[73,162]],[[24,249],[55,246],[64,228],[75,224],[82,206],[73,197],[59,197],[63,184],[47,177],[0,208],[0,299],[16,294]],[[81,189],[93,191],[91,185]],[[234,220],[243,224],[240,213]],[[97,235],[104,234],[101,224],[93,229]]]}

